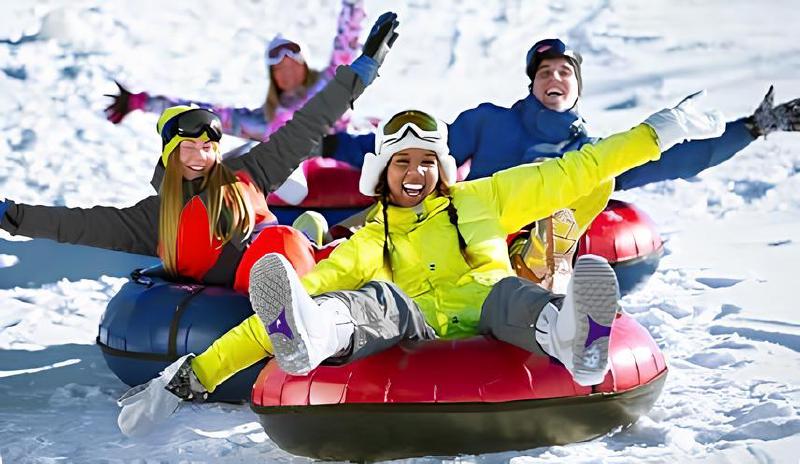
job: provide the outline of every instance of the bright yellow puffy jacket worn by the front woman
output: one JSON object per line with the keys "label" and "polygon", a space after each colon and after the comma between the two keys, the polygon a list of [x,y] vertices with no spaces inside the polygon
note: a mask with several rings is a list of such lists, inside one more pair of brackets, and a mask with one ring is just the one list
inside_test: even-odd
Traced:
{"label": "bright yellow puffy jacket worn by the front woman", "polygon": [[477,332],[492,286],[514,275],[506,236],[563,208],[573,208],[581,229],[602,211],[614,177],[660,156],[655,132],[639,125],[541,164],[500,171],[450,188],[463,255],[450,223],[450,199],[429,195],[421,208],[389,206],[389,263],[383,261],[381,205],[350,240],[302,278],[311,295],[355,290],[371,280],[392,281],[414,299],[441,337]]}

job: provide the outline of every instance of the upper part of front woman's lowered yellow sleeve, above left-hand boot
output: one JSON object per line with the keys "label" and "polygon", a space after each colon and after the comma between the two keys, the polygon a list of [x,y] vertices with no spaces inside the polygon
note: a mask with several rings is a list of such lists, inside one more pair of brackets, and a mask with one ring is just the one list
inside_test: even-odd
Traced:
{"label": "upper part of front woman's lowered yellow sleeve, above left-hand boot", "polygon": [[[381,262],[374,263],[376,250],[371,237],[362,233],[363,228],[349,240],[345,240],[323,259],[300,281],[311,296],[336,290],[357,290],[370,280],[375,271],[381,269]],[[382,242],[381,242],[382,243]],[[383,248],[377,250],[383,258]]]}

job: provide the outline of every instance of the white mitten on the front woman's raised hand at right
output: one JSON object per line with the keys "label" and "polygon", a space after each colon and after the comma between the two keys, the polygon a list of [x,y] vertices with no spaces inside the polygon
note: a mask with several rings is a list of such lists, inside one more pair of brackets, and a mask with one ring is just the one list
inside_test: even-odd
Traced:
{"label": "white mitten on the front woman's raised hand at right", "polygon": [[704,94],[689,95],[674,108],[665,108],[644,121],[656,132],[662,153],[684,140],[711,139],[725,132],[722,113],[696,106],[697,98]]}

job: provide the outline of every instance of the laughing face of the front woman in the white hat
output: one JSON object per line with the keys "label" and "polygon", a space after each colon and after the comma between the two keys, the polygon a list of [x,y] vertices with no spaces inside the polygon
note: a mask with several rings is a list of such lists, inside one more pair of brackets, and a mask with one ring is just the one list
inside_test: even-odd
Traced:
{"label": "laughing face of the front woman in the white hat", "polygon": [[386,171],[389,201],[410,208],[422,203],[439,183],[439,160],[436,153],[408,148],[392,156]]}

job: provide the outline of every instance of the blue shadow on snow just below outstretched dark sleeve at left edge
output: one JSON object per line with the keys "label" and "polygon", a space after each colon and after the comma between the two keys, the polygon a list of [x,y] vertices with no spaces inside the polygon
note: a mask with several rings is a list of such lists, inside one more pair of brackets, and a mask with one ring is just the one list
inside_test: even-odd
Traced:
{"label": "blue shadow on snow just below outstretched dark sleeve at left edge", "polygon": [[0,268],[0,288],[39,287],[68,280],[92,279],[108,275],[127,277],[136,268],[158,264],[158,258],[82,245],[35,239],[0,239],[0,254],[14,255],[18,261]]}

